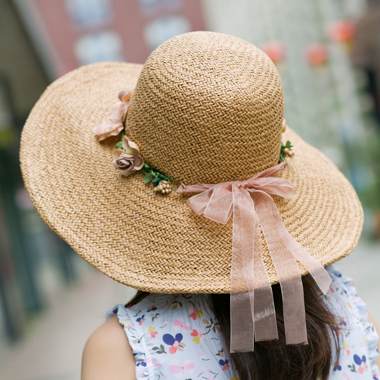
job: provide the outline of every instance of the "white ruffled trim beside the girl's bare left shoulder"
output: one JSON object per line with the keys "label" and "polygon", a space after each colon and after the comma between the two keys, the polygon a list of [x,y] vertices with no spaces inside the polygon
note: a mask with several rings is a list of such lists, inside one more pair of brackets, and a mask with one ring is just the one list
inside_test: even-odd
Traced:
{"label": "white ruffled trim beside the girl's bare left shoulder", "polygon": [[124,326],[124,331],[128,337],[129,345],[133,351],[133,357],[136,361],[136,380],[144,379],[148,380],[149,373],[146,364],[146,357],[143,344],[141,343],[141,337],[132,321],[129,317],[128,310],[124,305],[119,303],[113,309],[107,312],[106,319],[117,315],[119,323]]}

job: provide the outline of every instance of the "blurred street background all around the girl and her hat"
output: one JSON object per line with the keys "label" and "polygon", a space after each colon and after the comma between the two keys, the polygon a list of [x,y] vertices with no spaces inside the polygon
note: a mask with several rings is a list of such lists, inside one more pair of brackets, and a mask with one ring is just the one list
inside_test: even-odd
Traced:
{"label": "blurred street background all around the girl and her hat", "polygon": [[143,63],[193,30],[264,50],[282,78],[288,125],[355,186],[364,232],[337,266],[380,323],[380,0],[0,0],[0,378],[79,380],[87,337],[133,294],[35,212],[18,161],[28,113],[75,67]]}

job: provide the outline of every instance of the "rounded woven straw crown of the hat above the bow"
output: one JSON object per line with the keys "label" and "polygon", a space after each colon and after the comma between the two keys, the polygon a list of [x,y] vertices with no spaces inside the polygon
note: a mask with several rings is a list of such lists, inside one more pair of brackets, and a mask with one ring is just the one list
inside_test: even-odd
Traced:
{"label": "rounded woven straw crown of the hat above the bow", "polygon": [[144,160],[185,184],[244,180],[278,163],[284,100],[270,58],[226,34],[181,34],[150,54],[127,116]]}

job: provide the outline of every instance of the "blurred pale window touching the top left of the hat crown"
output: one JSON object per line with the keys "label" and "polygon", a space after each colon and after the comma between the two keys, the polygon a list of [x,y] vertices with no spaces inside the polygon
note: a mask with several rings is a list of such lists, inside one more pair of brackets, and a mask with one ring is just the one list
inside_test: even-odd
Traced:
{"label": "blurred pale window touching the top left of the hat crown", "polygon": [[191,31],[190,22],[182,16],[170,16],[150,21],[144,28],[144,39],[151,50],[166,40]]}

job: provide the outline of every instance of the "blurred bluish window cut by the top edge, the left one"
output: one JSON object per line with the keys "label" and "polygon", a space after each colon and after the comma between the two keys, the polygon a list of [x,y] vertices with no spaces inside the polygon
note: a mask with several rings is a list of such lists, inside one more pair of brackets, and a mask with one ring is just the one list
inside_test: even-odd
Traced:
{"label": "blurred bluish window cut by the top edge, the left one", "polygon": [[109,0],[65,0],[71,18],[80,26],[101,25],[109,21]]}

